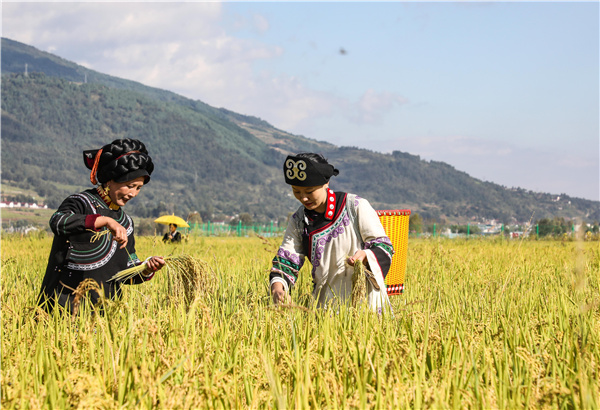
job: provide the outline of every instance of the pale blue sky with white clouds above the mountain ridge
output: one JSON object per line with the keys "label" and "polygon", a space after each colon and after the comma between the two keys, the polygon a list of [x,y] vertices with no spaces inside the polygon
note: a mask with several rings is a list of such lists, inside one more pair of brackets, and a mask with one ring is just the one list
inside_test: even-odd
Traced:
{"label": "pale blue sky with white clouds above the mountain ridge", "polygon": [[600,200],[599,3],[2,2],[2,36],[338,146]]}

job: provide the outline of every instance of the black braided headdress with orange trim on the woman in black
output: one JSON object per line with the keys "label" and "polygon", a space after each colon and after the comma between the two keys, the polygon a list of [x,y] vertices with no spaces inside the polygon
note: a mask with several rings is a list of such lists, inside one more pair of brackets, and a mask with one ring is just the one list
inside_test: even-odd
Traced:
{"label": "black braided headdress with orange trim on the woman in black", "polygon": [[100,149],[83,151],[83,162],[92,172],[90,181],[96,185],[110,180],[126,182],[145,177],[150,181],[154,171],[152,158],[143,142],[131,138],[114,140]]}

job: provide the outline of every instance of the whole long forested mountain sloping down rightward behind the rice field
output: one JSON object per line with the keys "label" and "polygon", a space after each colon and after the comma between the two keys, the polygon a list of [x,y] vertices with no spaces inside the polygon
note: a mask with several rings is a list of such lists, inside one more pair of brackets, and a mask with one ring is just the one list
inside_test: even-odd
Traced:
{"label": "whole long forested mountain sloping down rightward behind the rice field", "polygon": [[1,47],[2,183],[32,189],[51,207],[91,186],[83,150],[132,137],[146,143],[156,164],[151,183],[128,205],[140,217],[198,211],[210,220],[241,213],[284,219],[297,203],[281,175],[283,160],[313,151],[340,169],[334,190],[368,198],[377,209],[452,222],[600,219],[597,201],[508,189],[399,151],[338,147],[6,38]]}

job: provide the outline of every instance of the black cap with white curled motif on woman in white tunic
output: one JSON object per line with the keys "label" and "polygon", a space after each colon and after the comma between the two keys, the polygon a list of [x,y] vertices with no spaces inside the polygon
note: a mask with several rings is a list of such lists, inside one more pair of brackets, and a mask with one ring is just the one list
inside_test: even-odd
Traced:
{"label": "black cap with white curled motif on woman in white tunic", "polygon": [[339,173],[333,165],[313,161],[305,156],[289,155],[283,163],[283,175],[288,185],[325,185],[329,178]]}

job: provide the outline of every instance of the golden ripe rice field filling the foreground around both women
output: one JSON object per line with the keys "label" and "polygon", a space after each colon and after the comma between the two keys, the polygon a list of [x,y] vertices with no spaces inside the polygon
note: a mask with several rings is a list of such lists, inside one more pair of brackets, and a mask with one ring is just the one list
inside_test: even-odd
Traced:
{"label": "golden ripe rice field filling the foreground around both women", "polygon": [[51,238],[2,237],[2,408],[600,407],[598,242],[411,239],[393,316],[314,309],[308,266],[274,307],[276,238],[136,243],[214,286],[162,270],[103,314],[48,316]]}

